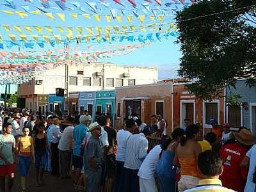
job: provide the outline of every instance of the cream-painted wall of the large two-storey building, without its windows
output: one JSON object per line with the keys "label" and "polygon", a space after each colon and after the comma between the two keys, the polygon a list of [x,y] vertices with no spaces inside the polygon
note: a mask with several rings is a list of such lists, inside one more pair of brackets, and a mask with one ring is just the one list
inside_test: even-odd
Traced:
{"label": "cream-painted wall of the large two-storey building, without its windows", "polygon": [[[83,91],[95,91],[101,90],[101,86],[83,86],[83,77],[95,77],[96,72],[102,71],[102,63],[93,63],[85,65],[70,65],[68,68],[69,76],[76,76],[77,86],[68,85],[68,92],[83,92]],[[77,70],[83,70],[83,75],[77,75]],[[154,83],[158,79],[157,68],[152,67],[125,67],[122,65],[113,65],[111,63],[104,63],[105,74],[105,89],[112,90],[114,87],[106,86],[106,78],[124,79],[124,86],[128,85],[128,79],[136,79],[136,84],[148,84]],[[129,77],[123,77],[123,74],[129,74]],[[146,74],[146,75],[142,75]],[[18,86],[18,93],[22,95],[33,94],[49,94],[55,93],[56,88],[65,88],[65,66],[53,68],[43,72],[40,77],[36,77],[35,80],[43,80],[43,83],[36,85],[35,81],[32,84],[24,83]],[[92,81],[91,81],[92,83]]]}

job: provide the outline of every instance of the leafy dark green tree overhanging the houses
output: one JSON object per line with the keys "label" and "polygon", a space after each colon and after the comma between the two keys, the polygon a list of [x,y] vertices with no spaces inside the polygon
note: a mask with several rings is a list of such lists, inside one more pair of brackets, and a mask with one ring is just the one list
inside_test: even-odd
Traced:
{"label": "leafy dark green tree overhanging the houses", "polygon": [[177,13],[179,75],[197,97],[212,99],[237,79],[256,84],[255,10],[256,0],[203,0]]}

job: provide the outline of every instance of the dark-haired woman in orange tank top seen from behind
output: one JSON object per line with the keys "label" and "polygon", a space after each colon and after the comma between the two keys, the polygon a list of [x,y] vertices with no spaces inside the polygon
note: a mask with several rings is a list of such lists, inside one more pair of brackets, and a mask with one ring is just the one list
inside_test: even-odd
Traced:
{"label": "dark-haired woman in orange tank top seen from behind", "polygon": [[201,153],[200,144],[196,142],[199,136],[198,125],[189,125],[175,153],[175,165],[180,166],[179,192],[198,185],[197,158]]}

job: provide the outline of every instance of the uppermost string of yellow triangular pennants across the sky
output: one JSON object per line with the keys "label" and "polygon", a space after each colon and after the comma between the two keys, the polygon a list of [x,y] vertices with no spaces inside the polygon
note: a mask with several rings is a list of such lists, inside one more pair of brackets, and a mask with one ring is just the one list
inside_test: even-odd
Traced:
{"label": "uppermost string of yellow triangular pennants across the sky", "polygon": [[[22,11],[1,10],[1,12],[6,13],[8,15],[17,14],[22,19],[29,16],[28,13],[22,12]],[[40,15],[42,12],[40,12],[39,10],[36,10],[33,12],[29,12],[29,13],[33,13],[34,15],[35,14]],[[149,17],[149,19],[152,21],[159,20],[159,22],[161,22],[161,20],[163,20],[164,17],[170,18],[170,17],[174,16],[173,13],[172,14],[164,13],[163,15],[157,15],[157,13],[154,11],[153,11],[152,15],[140,15],[136,11],[134,11],[133,13],[134,13],[134,15],[124,16],[124,15],[117,15],[116,11],[112,10],[111,15],[101,15],[101,14],[93,14],[92,15],[92,14],[88,14],[88,13],[84,13],[84,14],[69,13],[68,16],[70,16],[72,19],[77,19],[79,16],[83,16],[84,19],[95,19],[97,22],[102,22],[103,19],[105,19],[104,21],[106,21],[108,23],[111,23],[112,19],[115,19],[118,23],[121,23],[122,21],[127,21],[127,22],[131,23],[132,20],[134,20],[134,16],[136,19],[140,20],[141,23],[143,23],[147,17]],[[54,16],[54,14],[51,12],[47,12],[47,13],[43,13],[43,14],[51,20],[55,20],[56,16],[57,16],[57,18],[59,18],[63,22],[66,21],[66,17],[67,17],[67,14],[65,14],[65,13],[56,13],[56,16]]]}

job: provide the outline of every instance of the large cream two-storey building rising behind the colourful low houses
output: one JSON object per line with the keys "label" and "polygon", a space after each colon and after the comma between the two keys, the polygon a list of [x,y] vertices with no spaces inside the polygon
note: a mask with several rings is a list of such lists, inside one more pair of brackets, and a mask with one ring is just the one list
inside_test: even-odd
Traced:
{"label": "large cream two-storey building rising behind the colourful low houses", "polygon": [[[147,76],[141,76],[147,74]],[[68,92],[113,90],[119,86],[155,83],[158,70],[154,67],[127,67],[113,63],[82,63],[68,67]],[[18,86],[18,95],[29,102],[29,108],[38,110],[37,95],[56,93],[56,88],[65,88],[65,66],[52,68]],[[31,102],[31,106],[30,106]]]}

